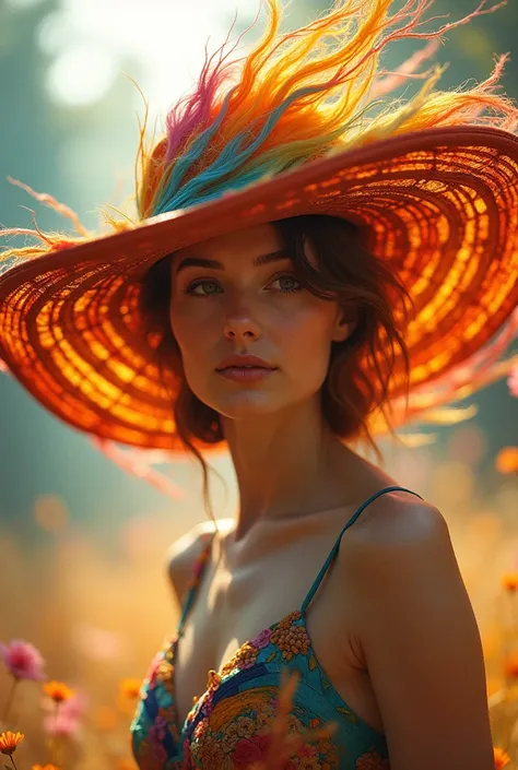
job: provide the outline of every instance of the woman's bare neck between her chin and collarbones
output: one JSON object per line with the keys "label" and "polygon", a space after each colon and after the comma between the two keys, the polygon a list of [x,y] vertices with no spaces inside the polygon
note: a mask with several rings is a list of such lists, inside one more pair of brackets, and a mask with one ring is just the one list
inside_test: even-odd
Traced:
{"label": "woman's bare neck between her chin and collarbones", "polygon": [[222,419],[239,490],[234,542],[259,521],[289,525],[343,505],[358,457],[323,423],[316,399],[254,420]]}

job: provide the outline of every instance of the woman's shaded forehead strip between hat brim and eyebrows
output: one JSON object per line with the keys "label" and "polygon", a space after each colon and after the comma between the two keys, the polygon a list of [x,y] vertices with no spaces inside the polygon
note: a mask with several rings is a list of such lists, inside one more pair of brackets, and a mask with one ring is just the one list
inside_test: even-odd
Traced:
{"label": "woman's shaded forehead strip between hat brim and eyebrows", "polygon": [[179,249],[176,254],[178,257],[212,257],[221,261],[225,258],[232,259],[236,254],[239,254],[242,259],[247,256],[254,259],[261,253],[281,249],[283,246],[283,239],[276,228],[272,224],[266,223],[233,230],[209,240],[200,240]]}

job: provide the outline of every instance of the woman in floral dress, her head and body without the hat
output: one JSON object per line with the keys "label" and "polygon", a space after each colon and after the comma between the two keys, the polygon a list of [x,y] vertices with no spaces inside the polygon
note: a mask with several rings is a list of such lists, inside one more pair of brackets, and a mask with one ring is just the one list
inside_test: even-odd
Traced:
{"label": "woman in floral dress, her head and body without the hat", "polygon": [[[146,308],[158,311],[170,275],[169,343],[186,383],[178,427],[192,435],[197,408],[220,415],[239,509],[223,532],[198,528],[174,548],[181,642],[166,645],[148,677],[133,723],[142,767],[170,756],[161,707],[174,739],[176,725],[188,725],[195,767],[263,758],[268,686],[287,666],[303,672],[293,728],[339,723],[334,746],[311,744],[315,754],[304,749],[294,767],[388,767],[386,733],[392,767],[491,768],[480,638],[445,520],[339,438],[357,433],[367,405],[349,380],[353,360],[368,327],[392,312],[384,279],[393,279],[358,253],[350,230],[321,216],[259,225],[180,249],[148,275]],[[363,301],[344,309],[302,286],[302,233],[329,265],[338,257],[342,292]],[[331,372],[345,379],[346,401],[330,396]],[[305,617],[293,612],[302,607]],[[193,696],[202,698],[189,713]]]}

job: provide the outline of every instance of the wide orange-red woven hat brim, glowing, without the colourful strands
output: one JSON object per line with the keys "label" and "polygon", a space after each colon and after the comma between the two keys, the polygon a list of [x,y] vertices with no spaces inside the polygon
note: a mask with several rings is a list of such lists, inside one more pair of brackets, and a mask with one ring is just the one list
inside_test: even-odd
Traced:
{"label": "wide orange-red woven hat brim, glowing, without the colourful strands", "polygon": [[[145,273],[200,240],[326,214],[361,225],[367,248],[413,299],[405,335],[411,388],[443,377],[480,351],[518,304],[518,138],[461,123],[355,144],[240,189],[227,185],[205,202],[120,224],[111,235],[54,238],[43,253],[14,254],[0,275],[7,367],[80,430],[178,448],[178,382],[162,379],[156,339],[139,316]],[[395,377],[390,399],[401,396],[400,388]]]}

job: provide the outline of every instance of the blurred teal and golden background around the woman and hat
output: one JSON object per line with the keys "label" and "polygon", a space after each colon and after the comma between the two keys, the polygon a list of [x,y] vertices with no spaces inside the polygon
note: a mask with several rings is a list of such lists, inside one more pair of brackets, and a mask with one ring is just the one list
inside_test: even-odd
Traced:
{"label": "blurred teal and golden background around the woman and hat", "polygon": [[[456,0],[455,17],[475,4]],[[437,0],[433,15],[451,7]],[[326,8],[295,0],[286,24],[307,23]],[[208,38],[209,50],[216,50],[236,12],[237,36],[258,9],[258,0],[0,0],[0,226],[31,227],[34,210],[43,229],[68,227],[9,183],[10,176],[69,204],[86,227],[98,227],[97,206],[121,205],[133,192],[144,112],[136,82],[149,102],[149,126],[161,127],[200,70]],[[510,51],[502,84],[517,97],[517,28],[518,4],[509,0],[451,32],[437,57],[449,62],[442,84],[483,80],[494,56]],[[261,29],[259,23],[245,47]],[[385,66],[396,67],[412,50],[411,44],[395,46]],[[511,643],[510,605],[499,580],[518,571],[518,484],[516,461],[513,473],[502,450],[518,442],[518,399],[502,380],[460,404],[467,405],[476,405],[476,416],[434,430],[433,443],[380,446],[389,473],[448,521],[483,635],[491,696],[503,685]],[[115,758],[123,768],[132,703],[120,696],[119,683],[143,676],[178,619],[165,553],[207,518],[201,474],[180,458],[153,466],[167,485],[128,474],[2,374],[0,410],[0,641],[32,641],[49,676],[82,694],[70,757],[101,768]],[[222,454],[212,465],[224,481],[212,483],[214,510],[233,516],[228,459]],[[308,588],[311,582],[313,576]],[[0,712],[9,686],[0,671]],[[24,767],[46,760],[44,714],[40,687],[23,683],[12,718],[27,733],[19,755]]]}

